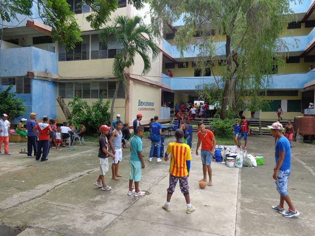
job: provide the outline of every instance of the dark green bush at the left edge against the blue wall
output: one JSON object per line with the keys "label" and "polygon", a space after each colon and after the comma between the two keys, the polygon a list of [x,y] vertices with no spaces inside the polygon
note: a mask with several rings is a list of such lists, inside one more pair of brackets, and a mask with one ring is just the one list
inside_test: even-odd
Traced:
{"label": "dark green bush at the left edge against the blue wall", "polygon": [[15,93],[10,92],[13,85],[0,92],[0,114],[7,114],[11,121],[24,114],[26,106],[23,106],[23,100],[16,97]]}

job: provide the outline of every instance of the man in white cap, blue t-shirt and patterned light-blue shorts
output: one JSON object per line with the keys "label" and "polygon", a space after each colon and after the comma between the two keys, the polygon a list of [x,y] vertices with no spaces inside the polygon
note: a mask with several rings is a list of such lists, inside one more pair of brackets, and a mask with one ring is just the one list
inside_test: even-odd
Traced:
{"label": "man in white cap, blue t-shirt and patterned light-blue shorts", "polygon": [[[294,208],[289,194],[287,192],[287,181],[291,174],[291,149],[290,143],[282,133],[283,126],[281,123],[275,122],[271,126],[271,134],[278,138],[276,143],[276,166],[274,168],[273,178],[275,179],[277,190],[280,194],[280,204],[276,207],[271,207],[274,211],[281,213],[284,217],[291,218],[300,215],[300,212]],[[285,211],[284,201],[289,206]]]}

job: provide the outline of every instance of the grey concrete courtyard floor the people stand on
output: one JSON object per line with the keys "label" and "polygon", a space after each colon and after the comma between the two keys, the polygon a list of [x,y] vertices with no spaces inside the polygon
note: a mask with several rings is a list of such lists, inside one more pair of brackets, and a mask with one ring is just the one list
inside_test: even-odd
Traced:
{"label": "grey concrete courtyard floor the people stand on", "polygon": [[[248,153],[263,155],[265,165],[228,168],[213,163],[213,186],[200,189],[200,157],[194,154],[189,176],[190,199],[196,211],[186,214],[186,203],[177,186],[171,211],[166,200],[169,162],[148,162],[150,141],[143,139],[145,169],[140,188],[146,196],[127,196],[129,149],[120,164],[120,180],[105,181],[110,191],[93,183],[99,175],[97,143],[51,149],[47,162],[19,154],[26,143],[10,143],[12,155],[0,155],[0,235],[4,236],[294,236],[314,235],[315,146],[293,143],[292,174],[288,189],[301,215],[287,219],[270,209],[279,203],[272,179],[274,139],[252,136]],[[165,146],[173,142],[167,138]],[[24,230],[24,231],[22,231]]]}

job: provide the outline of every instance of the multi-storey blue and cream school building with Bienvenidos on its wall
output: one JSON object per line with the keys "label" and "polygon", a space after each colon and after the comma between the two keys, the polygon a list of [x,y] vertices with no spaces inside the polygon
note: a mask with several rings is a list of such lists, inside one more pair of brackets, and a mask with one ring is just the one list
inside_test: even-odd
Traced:
{"label": "multi-storey blue and cream school building with Bienvenidos on its wall", "polygon": [[[105,47],[98,38],[98,31],[90,27],[86,17],[92,13],[88,5],[78,5],[77,0],[67,0],[70,9],[76,13],[76,20],[82,29],[83,41],[75,48],[65,51],[63,45],[52,42],[51,28],[42,24],[38,14],[32,18],[19,16],[11,23],[3,22],[0,29],[0,90],[13,85],[13,91],[24,100],[29,113],[38,113],[38,118],[49,116],[58,122],[65,121],[63,112],[56,101],[63,97],[67,104],[74,96],[92,104],[101,94],[105,99],[112,99],[117,86],[117,79],[112,73],[115,55],[122,46],[114,37],[108,39]],[[149,12],[136,10],[127,0],[118,0],[119,8],[112,13],[111,19],[118,15],[132,17]],[[256,118],[274,119],[276,107],[282,106],[284,119],[294,118],[304,113],[304,108],[314,102],[315,70],[308,72],[310,65],[315,66],[315,16],[314,0],[305,0],[301,4],[292,4],[297,22],[288,24],[287,35],[283,39],[289,47],[289,58],[286,64],[278,68],[273,75],[270,88],[265,99],[271,100],[269,111],[257,111]],[[33,12],[36,12],[35,8]],[[292,18],[292,19],[293,19]],[[150,18],[144,18],[149,24]],[[109,23],[110,24],[110,23]],[[152,61],[149,74],[141,75],[143,62],[140,56],[135,59],[135,66],[126,72],[129,75],[129,102],[123,88],[119,89],[114,106],[116,114],[122,115],[124,122],[132,125],[136,114],[144,115],[142,124],[158,115],[161,121],[170,120],[170,108],[161,107],[166,102],[171,108],[181,101],[193,101],[197,97],[196,89],[202,89],[206,83],[213,83],[214,76],[209,73],[200,77],[200,71],[194,63],[198,52],[187,52],[185,59],[179,55],[174,45],[174,31],[183,25],[182,21],[165,27],[163,39],[158,43],[158,59]],[[216,32],[214,32],[216,33]],[[290,35],[290,36],[288,36]],[[298,39],[297,47],[294,39]],[[195,35],[194,40],[198,40]],[[224,45],[224,39],[218,37],[217,47]],[[218,50],[213,71],[220,76],[224,66],[222,59],[224,47]],[[280,52],[281,53],[281,52]],[[174,77],[166,76],[167,70],[173,71]],[[249,117],[249,113],[245,112]]]}

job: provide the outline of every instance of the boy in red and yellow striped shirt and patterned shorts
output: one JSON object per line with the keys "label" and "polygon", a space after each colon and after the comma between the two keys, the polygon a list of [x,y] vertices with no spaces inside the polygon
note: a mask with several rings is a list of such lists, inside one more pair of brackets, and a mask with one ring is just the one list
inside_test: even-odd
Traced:
{"label": "boy in red and yellow striped shirt and patterned shorts", "polygon": [[190,204],[189,198],[189,186],[188,186],[188,177],[190,169],[190,147],[183,142],[184,131],[182,129],[177,129],[175,132],[176,142],[170,143],[165,152],[165,161],[168,161],[168,155],[171,154],[171,163],[169,168],[169,187],[167,189],[167,198],[166,203],[163,205],[163,209],[170,211],[170,201],[172,194],[175,191],[176,184],[179,180],[179,186],[182,193],[186,199],[187,209],[186,213],[190,214],[195,210]]}

